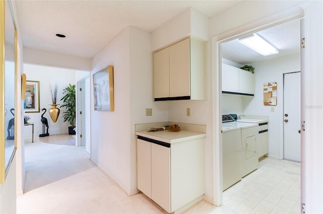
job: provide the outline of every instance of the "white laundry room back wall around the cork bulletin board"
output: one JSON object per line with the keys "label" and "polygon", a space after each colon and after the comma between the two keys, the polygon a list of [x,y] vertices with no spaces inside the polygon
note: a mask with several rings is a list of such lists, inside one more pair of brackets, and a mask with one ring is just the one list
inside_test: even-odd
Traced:
{"label": "white laundry room back wall around the cork bulletin board", "polygon": [[[269,150],[268,156],[283,158],[283,76],[284,73],[300,71],[300,55],[280,57],[276,60],[267,60],[252,63],[255,67],[255,94],[254,98],[243,97],[243,113],[246,115],[269,116]],[[275,112],[270,106],[263,105],[263,84],[277,82],[277,106]]]}

